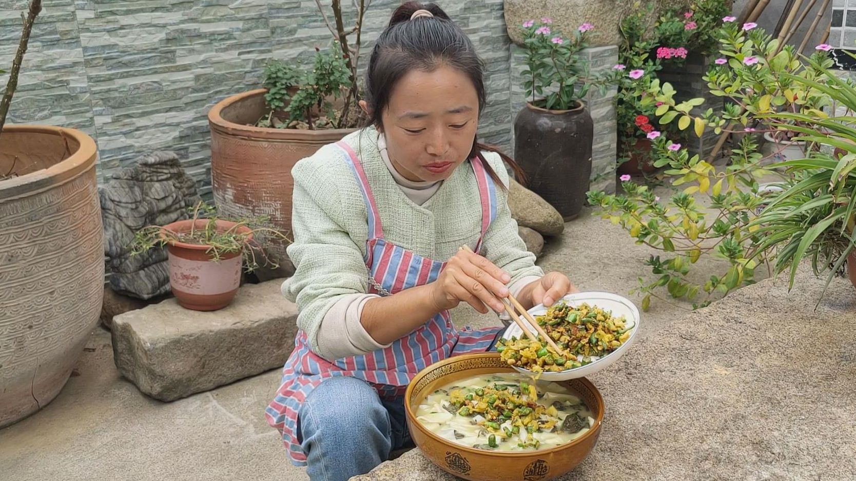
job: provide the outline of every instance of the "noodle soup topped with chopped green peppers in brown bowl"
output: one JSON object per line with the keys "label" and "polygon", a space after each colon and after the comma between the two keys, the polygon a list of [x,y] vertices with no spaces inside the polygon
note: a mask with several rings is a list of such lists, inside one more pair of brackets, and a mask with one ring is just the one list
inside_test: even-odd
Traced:
{"label": "noodle soup topped with chopped green peppers in brown bowl", "polygon": [[520,452],[586,434],[595,420],[561,384],[519,373],[468,377],[435,390],[415,409],[425,429],[462,446]]}

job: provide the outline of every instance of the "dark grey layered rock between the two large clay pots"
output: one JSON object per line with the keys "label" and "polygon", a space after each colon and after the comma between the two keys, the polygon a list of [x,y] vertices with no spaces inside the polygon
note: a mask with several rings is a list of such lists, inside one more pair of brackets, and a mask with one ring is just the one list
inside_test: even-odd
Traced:
{"label": "dark grey layered rock between the two large clay pots", "polygon": [[140,299],[168,293],[166,249],[156,247],[132,257],[129,246],[140,229],[186,219],[187,208],[201,200],[178,157],[167,151],[146,154],[133,167],[110,175],[98,196],[110,286]]}

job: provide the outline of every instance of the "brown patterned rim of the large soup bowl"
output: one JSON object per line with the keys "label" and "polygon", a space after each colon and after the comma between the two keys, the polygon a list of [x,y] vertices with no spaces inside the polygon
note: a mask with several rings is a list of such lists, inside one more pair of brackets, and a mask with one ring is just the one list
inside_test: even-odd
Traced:
{"label": "brown patterned rim of the large soup bowl", "polygon": [[[413,386],[415,386],[417,384],[417,382],[419,381],[420,378],[425,377],[425,375],[428,372],[433,371],[433,370],[437,369],[438,367],[441,367],[443,365],[453,364],[456,362],[460,362],[461,360],[479,359],[479,358],[498,358],[498,357],[500,357],[499,353],[462,354],[460,356],[455,356],[455,357],[451,357],[451,358],[438,360],[436,363],[429,365],[428,367],[426,367],[422,371],[419,371],[419,373],[415,377],[413,377],[413,379],[410,381],[410,383],[407,384],[407,390],[404,392],[404,410],[407,413],[407,418],[412,419],[414,424],[419,425],[419,427],[422,428],[422,431],[425,432],[425,434],[428,437],[431,437],[436,442],[441,442],[443,444],[448,444],[448,445],[454,446],[456,449],[461,449],[463,451],[466,451],[467,453],[487,454],[490,456],[499,456],[502,458],[509,457],[509,456],[514,457],[514,458],[528,457],[528,456],[532,456],[534,454],[545,454],[545,453],[552,453],[555,451],[564,450],[564,449],[570,448],[574,444],[579,444],[579,443],[583,442],[588,436],[594,436],[595,434],[597,434],[598,431],[600,431],[600,427],[603,424],[603,413],[606,411],[606,404],[603,403],[603,396],[600,395],[600,391],[597,390],[597,387],[595,387],[595,385],[593,383],[591,383],[591,381],[589,381],[586,377],[574,377],[574,379],[568,379],[567,381],[547,381],[548,383],[572,383],[574,381],[583,383],[586,385],[586,387],[589,390],[591,390],[591,394],[594,395],[594,398],[597,401],[597,404],[599,405],[599,407],[601,407],[601,409],[598,410],[597,417],[594,419],[594,424],[589,427],[589,431],[586,432],[586,434],[574,439],[573,441],[565,442],[563,444],[559,444],[558,446],[554,446],[552,448],[534,449],[531,451],[520,451],[519,453],[515,453],[512,451],[496,452],[496,451],[489,451],[487,449],[472,448],[470,446],[458,444],[454,441],[449,441],[449,439],[446,439],[444,437],[437,436],[437,434],[435,434],[433,431],[425,428],[425,426],[419,422],[419,419],[416,419],[416,414],[413,413],[413,408],[411,407],[411,404],[412,404],[411,398],[413,396]],[[508,368],[510,369],[511,366],[508,366]],[[497,369],[498,369],[498,366],[497,366]],[[514,373],[517,371],[512,370],[510,372]],[[591,409],[591,407],[589,407],[589,409]]]}

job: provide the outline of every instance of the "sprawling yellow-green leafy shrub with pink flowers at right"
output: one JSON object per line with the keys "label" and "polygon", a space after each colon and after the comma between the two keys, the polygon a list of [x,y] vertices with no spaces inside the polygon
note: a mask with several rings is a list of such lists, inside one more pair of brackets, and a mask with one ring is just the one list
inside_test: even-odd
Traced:
{"label": "sprawling yellow-green leafy shrub with pink flowers at right", "polygon": [[[735,25],[729,16],[723,21],[725,26],[717,29],[716,37],[725,62],[715,62],[704,76],[710,92],[726,100],[722,114],[708,110],[703,116],[693,116],[691,110],[703,99],[678,103],[674,88],[656,79],[643,85],[640,104],[655,109],[660,126],[675,123],[686,130],[692,125],[698,136],[705,129],[750,133],[730,152],[728,165],[715,168],[698,155],[691,157],[687,149],[652,129],[646,135],[652,140],[654,165],[668,166],[665,174],[673,186],[684,186],[683,191],[661,202],[648,187],[626,177],[621,179],[623,194],[588,193],[597,215],[627,229],[637,243],[663,252],[645,262],[656,277],[639,278],[639,291],[645,294],[643,309],[652,297],[664,299],[659,294],[662,288],[698,307],[706,306],[717,294],[753,282],[758,264],[766,264],[770,256],[770,246],[762,246],[759,226],[752,223],[766,202],[759,193],[758,178],[776,171],[765,167],[768,159],[758,153],[752,133],[787,130],[787,126],[770,123],[778,112],[823,116],[820,109],[829,103],[829,97],[812,86],[829,81],[823,73],[832,61],[823,49],[818,48],[804,63],[793,47],[778,50],[777,41],[757,26]],[[634,121],[639,128],[645,125],[641,117]],[[648,125],[655,123],[651,118],[645,116]],[[794,130],[805,131],[800,119],[805,117],[792,116],[789,122],[794,122]],[[722,260],[722,268],[707,279],[690,275],[703,255]]]}

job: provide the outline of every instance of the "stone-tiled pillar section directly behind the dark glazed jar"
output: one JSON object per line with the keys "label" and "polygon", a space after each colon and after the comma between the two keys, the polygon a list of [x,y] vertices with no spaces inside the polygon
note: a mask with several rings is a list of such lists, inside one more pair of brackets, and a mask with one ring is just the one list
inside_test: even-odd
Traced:
{"label": "stone-tiled pillar section directly behind the dark glazed jar", "polygon": [[[591,72],[607,71],[618,62],[618,47],[605,46],[583,50],[581,56],[589,62]],[[526,102],[526,92],[523,89],[522,72],[526,69],[525,50],[517,45],[511,45],[511,113],[516,116]],[[618,134],[615,128],[615,87],[607,89],[603,94],[591,89],[586,98],[586,109],[591,114],[594,123],[594,141],[591,145],[591,182],[590,189],[615,192],[615,144]],[[514,122],[509,128],[514,142]]]}

